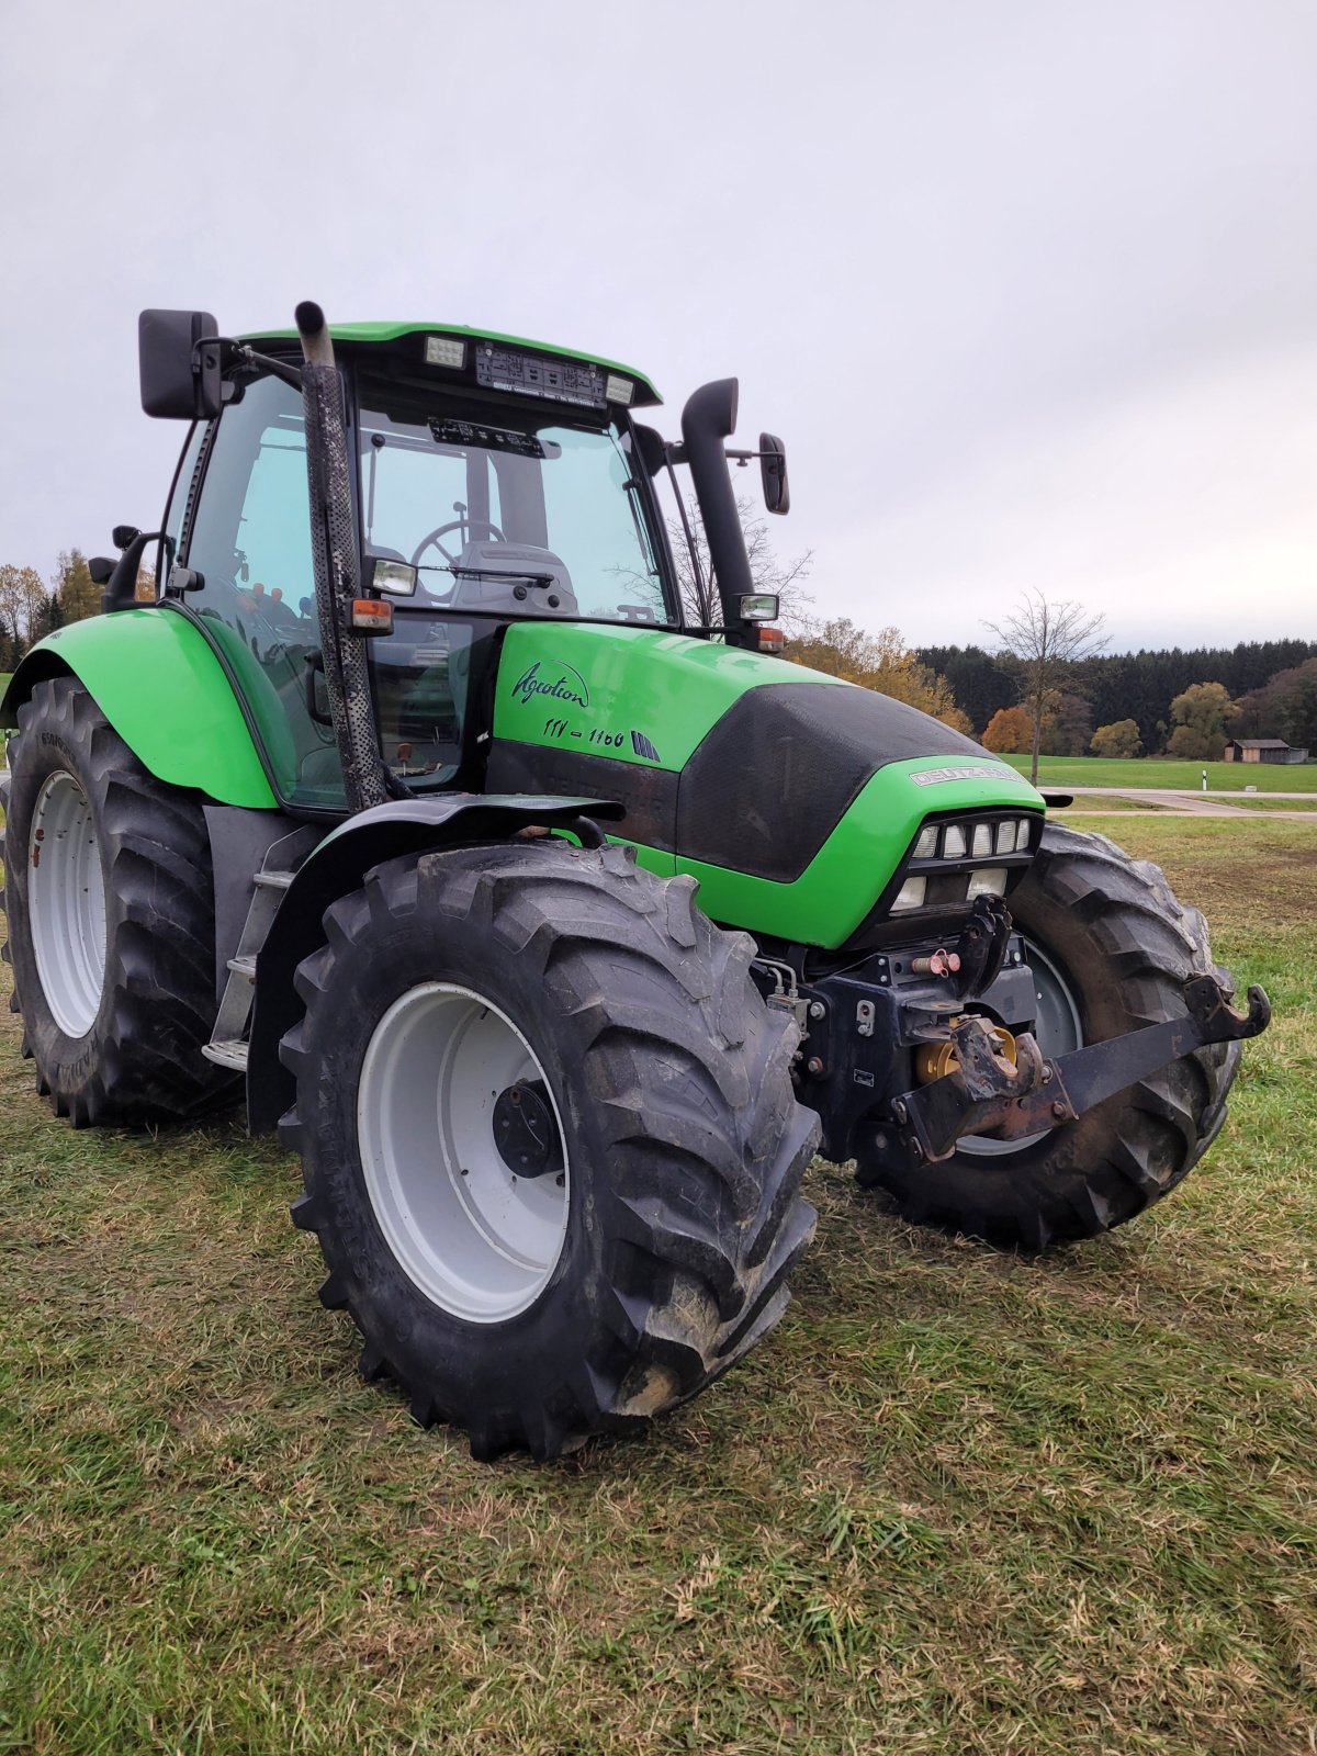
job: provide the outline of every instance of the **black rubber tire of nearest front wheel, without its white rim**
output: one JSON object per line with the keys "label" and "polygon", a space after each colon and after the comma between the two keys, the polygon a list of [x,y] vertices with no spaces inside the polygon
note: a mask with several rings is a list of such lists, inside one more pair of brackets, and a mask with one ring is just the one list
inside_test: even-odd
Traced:
{"label": "black rubber tire of nearest front wheel, without its white rim", "polygon": [[[788,1299],[818,1136],[792,1094],[797,1031],[755,990],[753,943],[694,896],[616,846],[400,859],[330,908],[328,943],[299,969],[283,1136],[302,1154],[295,1222],[328,1266],[321,1301],[362,1331],[363,1375],[397,1378],[421,1424],[464,1428],[478,1457],[553,1457],[694,1396]],[[388,1010],[427,982],[513,1020],[562,1124],[562,1252],[534,1303],[500,1321],[421,1291],[363,1173],[362,1066]]]}

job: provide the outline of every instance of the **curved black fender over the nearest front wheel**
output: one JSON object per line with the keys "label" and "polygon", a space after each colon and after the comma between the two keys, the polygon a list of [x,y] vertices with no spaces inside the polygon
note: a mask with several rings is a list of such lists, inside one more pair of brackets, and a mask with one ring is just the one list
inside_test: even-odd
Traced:
{"label": "curved black fender over the nearest front wheel", "polygon": [[404,853],[507,841],[530,824],[583,829],[583,817],[616,820],[622,806],[606,799],[457,792],[376,804],[332,831],[288,887],[256,957],[256,1004],[248,1050],[251,1133],[272,1129],[293,1103],[293,1076],[279,1061],[279,1043],[302,1017],[293,976],[302,959],[325,943],[321,922],[332,903],[360,890],[374,866]]}

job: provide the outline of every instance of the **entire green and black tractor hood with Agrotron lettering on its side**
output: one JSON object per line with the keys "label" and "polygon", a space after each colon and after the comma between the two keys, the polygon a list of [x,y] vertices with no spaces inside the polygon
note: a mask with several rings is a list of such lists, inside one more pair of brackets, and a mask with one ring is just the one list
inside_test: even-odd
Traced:
{"label": "entire green and black tractor hood with Agrotron lettering on its side", "polygon": [[929,817],[1043,810],[973,739],[781,658],[653,629],[522,622],[488,785],[616,799],[646,866],[715,920],[843,945]]}

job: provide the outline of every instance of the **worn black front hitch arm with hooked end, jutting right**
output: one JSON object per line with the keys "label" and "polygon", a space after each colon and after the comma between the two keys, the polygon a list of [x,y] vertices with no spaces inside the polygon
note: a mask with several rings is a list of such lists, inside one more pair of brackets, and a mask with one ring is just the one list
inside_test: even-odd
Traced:
{"label": "worn black front hitch arm with hooked end, jutting right", "polygon": [[1271,1022],[1261,987],[1249,989],[1249,1011],[1236,1011],[1212,976],[1185,983],[1187,1011],[1106,1043],[1045,1061],[1027,1033],[1015,1038],[1015,1062],[999,1052],[987,1018],[971,1013],[950,1029],[955,1066],[931,1085],[892,1099],[896,1138],[883,1133],[880,1157],[915,1164],[948,1159],[964,1134],[1020,1140],[1073,1122],[1106,1098],[1196,1048],[1240,1043]]}

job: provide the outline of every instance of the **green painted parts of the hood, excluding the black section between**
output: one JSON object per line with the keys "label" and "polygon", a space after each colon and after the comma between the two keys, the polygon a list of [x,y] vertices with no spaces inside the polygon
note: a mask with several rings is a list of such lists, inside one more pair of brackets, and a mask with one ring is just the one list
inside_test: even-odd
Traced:
{"label": "green painted parts of the hood, excluding the black section between", "polygon": [[[685,634],[523,622],[504,643],[493,734],[680,773],[732,702],[766,683],[855,688],[820,671]],[[632,730],[650,741],[657,762],[636,753]],[[924,785],[911,780],[943,767],[976,773]],[[706,866],[680,850],[632,846],[650,871],[699,878],[701,906],[713,920],[831,948],[869,913],[925,817],[999,806],[1041,811],[1043,799],[987,752],[929,755],[878,769],[792,883]]]}

